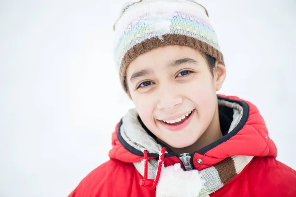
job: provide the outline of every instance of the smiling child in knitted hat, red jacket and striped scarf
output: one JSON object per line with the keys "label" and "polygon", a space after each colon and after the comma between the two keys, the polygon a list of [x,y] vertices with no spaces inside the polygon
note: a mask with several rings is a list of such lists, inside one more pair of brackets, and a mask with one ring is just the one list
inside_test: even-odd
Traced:
{"label": "smiling child in knitted hat, red jacket and striped scarf", "polygon": [[70,197],[293,197],[296,172],[276,160],[250,102],[217,95],[226,76],[206,9],[141,0],[114,24],[122,87],[136,108],[116,125],[110,160]]}

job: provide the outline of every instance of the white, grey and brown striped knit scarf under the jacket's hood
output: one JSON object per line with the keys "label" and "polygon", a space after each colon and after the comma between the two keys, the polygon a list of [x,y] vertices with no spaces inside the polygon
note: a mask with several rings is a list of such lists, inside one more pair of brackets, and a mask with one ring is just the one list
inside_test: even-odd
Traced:
{"label": "white, grey and brown striped knit scarf under the jacket's hood", "polygon": [[[184,171],[180,163],[163,166],[156,187],[156,197],[206,197],[242,172],[252,158],[253,156],[232,156],[200,171]],[[135,167],[140,173],[143,172],[143,165],[138,164]],[[148,160],[149,178],[155,178],[157,167],[156,159]]]}

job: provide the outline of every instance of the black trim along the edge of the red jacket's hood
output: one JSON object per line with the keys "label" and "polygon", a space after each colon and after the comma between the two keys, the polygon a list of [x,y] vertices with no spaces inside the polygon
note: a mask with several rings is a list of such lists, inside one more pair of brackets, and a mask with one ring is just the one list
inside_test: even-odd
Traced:
{"label": "black trim along the edge of the red jacket's hood", "polygon": [[[194,153],[198,153],[198,154],[201,154],[201,155],[204,155],[205,153],[207,153],[208,151],[210,151],[211,149],[217,147],[218,145],[222,144],[223,142],[226,142],[227,140],[229,140],[231,137],[235,136],[242,128],[243,126],[246,124],[247,120],[248,120],[248,117],[249,117],[249,105],[244,102],[244,101],[238,101],[238,100],[232,100],[232,99],[228,99],[228,98],[224,98],[224,97],[221,97],[221,96],[218,96],[218,99],[221,99],[221,100],[225,100],[225,101],[229,101],[229,102],[234,102],[234,103],[237,103],[239,104],[240,106],[243,107],[243,116],[242,118],[240,119],[239,123],[237,124],[237,126],[228,134],[224,135],[222,138],[220,138],[219,140],[209,144],[208,146],[205,146],[204,148],[194,152]],[[139,118],[138,118],[139,119]],[[141,122],[141,121],[140,121]],[[144,154],[135,149],[134,147],[132,147],[131,145],[129,145],[123,138],[122,136],[120,135],[120,127],[122,125],[122,118],[119,122],[119,125],[118,125],[118,130],[117,130],[117,137],[118,137],[118,140],[120,141],[120,143],[123,145],[123,147],[128,150],[129,152],[131,152],[132,154],[135,154],[135,155],[138,155],[138,156],[144,156]],[[142,122],[143,123],[143,122]],[[143,125],[143,124],[142,124]],[[146,128],[146,126],[144,127],[145,130],[148,130],[148,128]],[[150,131],[149,131],[150,132]],[[163,145],[162,145],[163,146]],[[194,153],[191,153],[192,155]],[[191,155],[190,154],[190,155]],[[148,156],[149,157],[158,157],[158,154],[157,153],[148,153]],[[179,156],[177,154],[174,154],[174,153],[169,153],[169,154],[165,154],[165,157],[173,157],[173,156]],[[193,159],[193,157],[191,157],[191,160]],[[190,161],[192,163],[192,161]]]}

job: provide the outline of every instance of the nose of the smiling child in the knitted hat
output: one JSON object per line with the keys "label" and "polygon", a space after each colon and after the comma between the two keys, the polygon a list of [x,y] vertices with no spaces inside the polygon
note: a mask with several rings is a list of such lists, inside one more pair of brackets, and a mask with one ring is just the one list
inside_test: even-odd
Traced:
{"label": "nose of the smiling child in the knitted hat", "polygon": [[183,98],[178,94],[176,88],[172,86],[159,89],[158,98],[157,109],[159,110],[169,110],[183,102]]}

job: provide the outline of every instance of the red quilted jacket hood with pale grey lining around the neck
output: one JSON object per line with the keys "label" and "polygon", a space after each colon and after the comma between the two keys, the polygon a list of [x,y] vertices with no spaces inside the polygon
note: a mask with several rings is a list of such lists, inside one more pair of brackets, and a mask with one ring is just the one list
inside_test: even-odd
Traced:
{"label": "red quilted jacket hood with pale grey lining around the neck", "polygon": [[[276,146],[269,138],[265,122],[255,105],[234,96],[218,95],[218,101],[219,106],[233,110],[233,120],[226,135],[193,153],[194,158],[203,160],[204,165],[200,169],[231,156],[276,157]],[[140,162],[144,150],[148,151],[148,157],[158,157],[162,146],[144,127],[137,111],[131,109],[116,125],[109,157],[123,162]],[[174,163],[176,155],[166,152],[165,157]]]}

